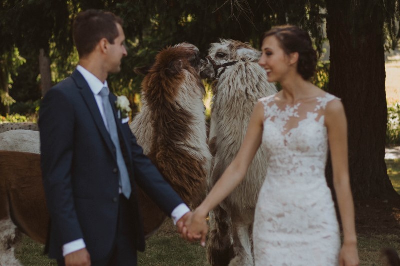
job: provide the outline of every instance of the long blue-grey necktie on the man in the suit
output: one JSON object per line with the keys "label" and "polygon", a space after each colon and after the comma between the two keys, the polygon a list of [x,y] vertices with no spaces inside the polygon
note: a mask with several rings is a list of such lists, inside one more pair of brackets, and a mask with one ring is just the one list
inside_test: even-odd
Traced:
{"label": "long blue-grey necktie on the man in the suit", "polygon": [[116,148],[116,162],[119,168],[119,185],[122,188],[123,195],[129,199],[132,188],[130,187],[128,170],[126,168],[121,146],[119,144],[118,130],[116,128],[114,113],[112,111],[111,103],[109,102],[109,89],[107,87],[103,87],[99,95],[103,100],[104,114],[108,124],[107,130]]}

